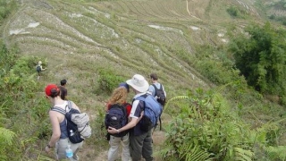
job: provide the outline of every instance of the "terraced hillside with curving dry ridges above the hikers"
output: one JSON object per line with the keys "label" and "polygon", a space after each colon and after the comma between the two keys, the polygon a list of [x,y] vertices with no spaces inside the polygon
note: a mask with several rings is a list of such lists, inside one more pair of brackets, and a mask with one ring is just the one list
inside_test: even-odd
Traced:
{"label": "terraced hillside with curving dry ridges above the hikers", "polygon": [[[51,75],[57,71],[55,77],[82,74],[81,69],[69,70],[80,60],[89,64],[84,71],[112,64],[118,74],[126,77],[156,70],[162,73],[164,81],[181,80],[173,89],[181,89],[180,84],[187,85],[184,89],[208,86],[190,67],[191,59],[183,60],[184,56],[193,55],[192,44],[205,43],[206,35],[214,31],[192,9],[194,5],[204,9],[207,2],[115,1],[81,5],[23,1],[22,4],[21,11],[6,25],[4,37],[10,43],[17,43],[23,55],[45,56]],[[181,54],[179,48],[183,49]]]}

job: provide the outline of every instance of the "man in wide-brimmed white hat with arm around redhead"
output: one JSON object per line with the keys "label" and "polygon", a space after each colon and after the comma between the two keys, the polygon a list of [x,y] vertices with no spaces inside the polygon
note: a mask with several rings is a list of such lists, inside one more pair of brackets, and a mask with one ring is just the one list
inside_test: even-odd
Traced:
{"label": "man in wide-brimmed white hat with arm around redhead", "polygon": [[135,93],[130,112],[131,121],[120,129],[116,130],[110,127],[107,131],[116,133],[133,128],[130,130],[130,155],[132,160],[141,160],[141,157],[144,157],[146,161],[151,161],[153,160],[152,129],[148,131],[141,130],[139,121],[143,116],[144,102],[136,99],[137,97],[147,95],[149,83],[139,74],[135,74],[130,80],[126,80],[126,83]]}

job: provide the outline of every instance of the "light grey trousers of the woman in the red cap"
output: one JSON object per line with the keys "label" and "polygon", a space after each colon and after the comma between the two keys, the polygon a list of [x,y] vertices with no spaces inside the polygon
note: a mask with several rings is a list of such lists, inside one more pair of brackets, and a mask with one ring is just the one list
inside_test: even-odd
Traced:
{"label": "light grey trousers of the woman in the red cap", "polygon": [[83,141],[77,144],[71,143],[71,141],[66,138],[63,140],[58,140],[55,144],[55,158],[57,160],[65,159],[65,149],[68,147],[68,144],[71,145],[71,149],[73,152],[73,157],[71,160],[79,160],[79,157],[77,156],[77,153],[79,152],[80,148],[82,147]]}

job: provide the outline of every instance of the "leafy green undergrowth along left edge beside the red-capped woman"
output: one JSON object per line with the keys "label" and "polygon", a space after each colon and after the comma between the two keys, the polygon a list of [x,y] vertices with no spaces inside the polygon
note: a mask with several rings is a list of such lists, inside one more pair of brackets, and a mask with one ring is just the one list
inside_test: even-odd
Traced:
{"label": "leafy green undergrowth along left edge beside the red-capped woman", "polygon": [[[38,102],[29,102],[29,99],[36,97],[38,88],[31,77],[31,66],[33,59],[24,57],[17,58],[17,50],[10,50],[1,44],[1,75],[0,75],[0,103],[1,103],[1,144],[0,156],[16,160],[24,156],[24,149],[33,146],[38,136],[46,136],[46,109],[30,106],[46,106]],[[32,64],[30,64],[32,65]],[[34,67],[32,66],[32,69]],[[25,126],[22,126],[25,123]],[[49,131],[48,131],[49,132]],[[6,143],[6,144],[5,144]]]}

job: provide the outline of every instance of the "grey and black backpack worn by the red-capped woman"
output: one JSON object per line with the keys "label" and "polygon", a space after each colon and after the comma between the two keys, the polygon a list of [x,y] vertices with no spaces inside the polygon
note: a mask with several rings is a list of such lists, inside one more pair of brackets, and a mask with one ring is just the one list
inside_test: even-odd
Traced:
{"label": "grey and black backpack worn by the red-capped woman", "polygon": [[72,108],[71,105],[71,101],[68,101],[65,110],[57,106],[54,106],[51,110],[65,116],[69,140],[75,144],[89,138],[91,136],[91,128],[89,126],[88,114],[80,113],[79,110]]}

